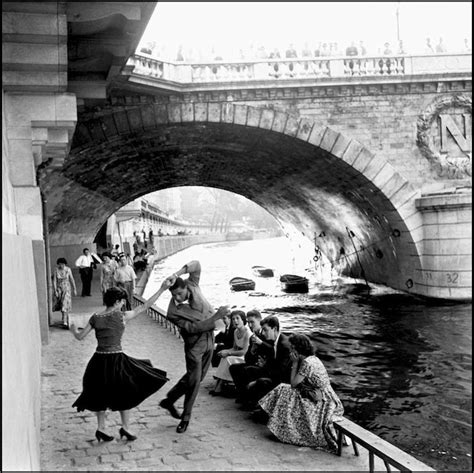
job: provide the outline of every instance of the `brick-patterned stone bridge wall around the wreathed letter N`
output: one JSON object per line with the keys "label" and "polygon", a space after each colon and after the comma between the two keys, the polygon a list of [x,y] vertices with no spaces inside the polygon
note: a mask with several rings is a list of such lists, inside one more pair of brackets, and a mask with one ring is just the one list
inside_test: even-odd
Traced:
{"label": "brick-patterned stone bridge wall around the wreathed letter N", "polygon": [[345,86],[329,88],[329,96],[234,100],[234,103],[294,114],[314,121],[320,128],[327,126],[356,139],[386,159],[407,181],[428,192],[469,181],[467,175],[447,181],[417,146],[418,120],[432,104],[452,94],[471,97],[470,84],[455,82],[451,88],[449,93],[440,94],[433,84]]}

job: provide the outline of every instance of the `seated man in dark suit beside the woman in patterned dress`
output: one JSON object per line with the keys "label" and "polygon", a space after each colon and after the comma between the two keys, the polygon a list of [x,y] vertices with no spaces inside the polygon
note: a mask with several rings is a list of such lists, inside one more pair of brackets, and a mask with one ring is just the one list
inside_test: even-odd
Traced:
{"label": "seated man in dark suit beside the woman in patterned dress", "polygon": [[291,377],[290,344],[280,333],[278,317],[270,315],[262,322],[262,333],[267,342],[273,342],[274,356],[267,357],[262,366],[249,366],[245,370],[243,401],[247,407],[257,407],[257,402],[280,383],[289,383]]}

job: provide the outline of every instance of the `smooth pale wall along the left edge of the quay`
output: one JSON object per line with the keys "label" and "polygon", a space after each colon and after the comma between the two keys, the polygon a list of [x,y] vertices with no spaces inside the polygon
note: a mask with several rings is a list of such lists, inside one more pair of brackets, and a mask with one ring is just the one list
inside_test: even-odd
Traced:
{"label": "smooth pale wall along the left edge of the quay", "polygon": [[[4,100],[5,124],[3,107]],[[41,336],[37,269],[32,238],[18,234],[5,130],[3,126],[2,469],[39,470]]]}

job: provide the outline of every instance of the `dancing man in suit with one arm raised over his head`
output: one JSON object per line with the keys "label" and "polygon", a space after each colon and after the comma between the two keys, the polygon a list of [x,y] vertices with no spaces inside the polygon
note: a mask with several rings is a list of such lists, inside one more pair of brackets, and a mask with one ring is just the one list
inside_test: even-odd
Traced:
{"label": "dancing man in suit with one arm raised over his head", "polygon": [[[183,280],[180,277],[183,274],[189,274],[189,277]],[[180,328],[184,340],[186,373],[171,388],[160,406],[167,409],[175,419],[181,419],[176,428],[180,434],[188,428],[199,385],[211,364],[215,322],[229,314],[227,306],[219,307],[214,313],[214,308],[204,298],[199,287],[200,276],[201,264],[191,261],[166,279],[171,284],[169,290],[172,295],[168,319]],[[182,396],[184,409],[180,415],[174,403]]]}

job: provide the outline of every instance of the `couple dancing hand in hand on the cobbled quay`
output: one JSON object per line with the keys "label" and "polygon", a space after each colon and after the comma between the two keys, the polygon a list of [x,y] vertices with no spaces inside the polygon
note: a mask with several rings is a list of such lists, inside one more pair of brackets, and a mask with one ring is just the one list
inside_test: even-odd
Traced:
{"label": "couple dancing hand in hand on the cobbled quay", "polygon": [[[182,275],[189,274],[187,279]],[[180,419],[178,433],[187,430],[191,411],[204,379],[214,348],[215,322],[229,314],[227,306],[217,311],[205,299],[199,287],[201,265],[191,261],[176,273],[168,276],[155,294],[134,310],[122,311],[127,294],[123,289],[112,287],[104,294],[105,310],[94,313],[84,329],[74,325],[70,329],[76,339],[84,339],[92,330],[98,341],[97,349],[89,361],[83,377],[83,391],[73,407],[85,409],[97,415],[96,438],[111,441],[113,436],[104,432],[105,411],[119,411],[122,427],[120,437],[135,440],[130,433],[130,409],[158,391],[167,381],[166,372],[154,368],[149,360],[132,358],[122,351],[121,339],[125,323],[145,313],[167,289],[172,298],[168,307],[168,319],[180,328],[184,340],[186,373],[168,392],[160,406]],[[184,409],[180,414],[174,403],[184,396]]]}

